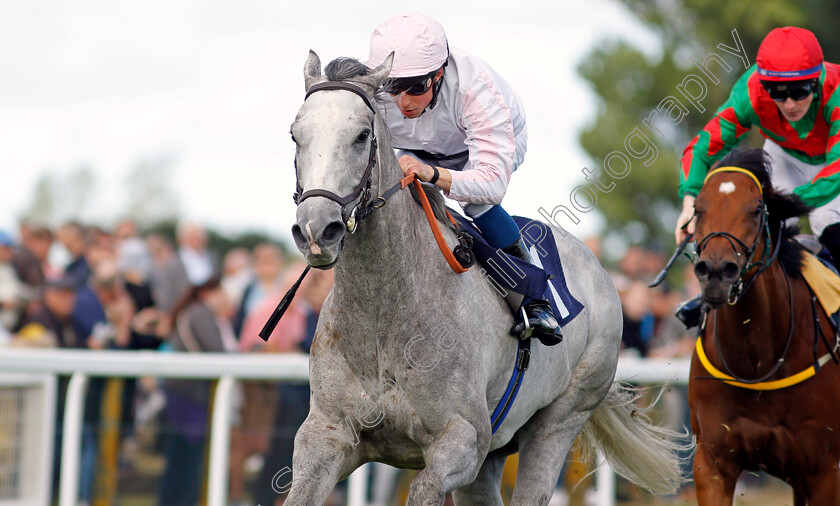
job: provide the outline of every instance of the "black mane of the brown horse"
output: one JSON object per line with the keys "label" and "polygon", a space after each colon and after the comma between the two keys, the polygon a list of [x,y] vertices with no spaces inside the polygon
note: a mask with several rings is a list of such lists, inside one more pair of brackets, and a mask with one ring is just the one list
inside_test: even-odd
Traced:
{"label": "black mane of the brown horse", "polygon": [[[778,241],[779,223],[788,218],[808,214],[811,207],[798,195],[778,192],[771,183],[770,158],[763,149],[736,149],[726,155],[715,167],[740,167],[750,171],[761,183],[764,203],[767,205],[770,234],[773,243]],[[799,277],[802,271],[805,248],[794,239],[799,234],[799,226],[787,225],[781,229],[782,240],[779,250],[779,263],[792,277]]]}

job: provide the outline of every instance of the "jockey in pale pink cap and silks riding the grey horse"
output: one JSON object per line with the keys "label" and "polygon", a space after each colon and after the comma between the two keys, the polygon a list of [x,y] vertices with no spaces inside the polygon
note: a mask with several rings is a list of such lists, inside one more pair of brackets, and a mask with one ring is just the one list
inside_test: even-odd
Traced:
{"label": "jockey in pale pink cap and silks riding the grey horse", "polygon": [[[533,263],[510,215],[500,204],[527,144],[525,110],[516,92],[484,61],[449,48],[443,27],[418,13],[394,16],[371,36],[365,65],[394,52],[384,92],[377,96],[405,175],[441,188],[461,203],[493,248]],[[507,297],[517,322],[557,344],[562,333],[547,300]]]}

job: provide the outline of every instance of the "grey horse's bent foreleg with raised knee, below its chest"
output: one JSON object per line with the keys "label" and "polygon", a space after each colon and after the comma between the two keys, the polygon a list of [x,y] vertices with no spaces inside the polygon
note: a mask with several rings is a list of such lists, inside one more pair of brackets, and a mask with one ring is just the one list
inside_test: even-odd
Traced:
{"label": "grey horse's bent foreleg with raised knee, below its chest", "polygon": [[411,481],[406,505],[441,505],[446,492],[472,481],[490,445],[489,425],[486,432],[479,438],[475,426],[460,416],[450,421],[427,448],[426,468]]}

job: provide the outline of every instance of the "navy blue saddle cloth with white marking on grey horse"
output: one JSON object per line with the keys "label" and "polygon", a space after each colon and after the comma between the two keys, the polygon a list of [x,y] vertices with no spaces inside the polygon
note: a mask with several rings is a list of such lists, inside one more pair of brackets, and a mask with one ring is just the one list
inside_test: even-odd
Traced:
{"label": "navy blue saddle cloth with white marking on grey horse", "polygon": [[548,299],[560,326],[572,321],[583,310],[583,304],[575,299],[566,285],[557,244],[548,225],[521,216],[513,217],[531,251],[531,257],[539,264],[532,265],[491,247],[472,222],[458,213],[451,214],[473,236],[476,258],[499,287],[534,299]]}

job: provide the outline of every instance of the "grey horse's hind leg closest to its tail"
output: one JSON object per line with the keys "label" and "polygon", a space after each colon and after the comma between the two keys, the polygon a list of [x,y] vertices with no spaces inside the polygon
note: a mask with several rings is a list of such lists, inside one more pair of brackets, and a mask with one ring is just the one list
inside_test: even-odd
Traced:
{"label": "grey horse's hind leg closest to its tail", "polygon": [[591,412],[574,411],[555,400],[520,429],[519,467],[511,506],[545,505],[551,500],[569,449]]}

